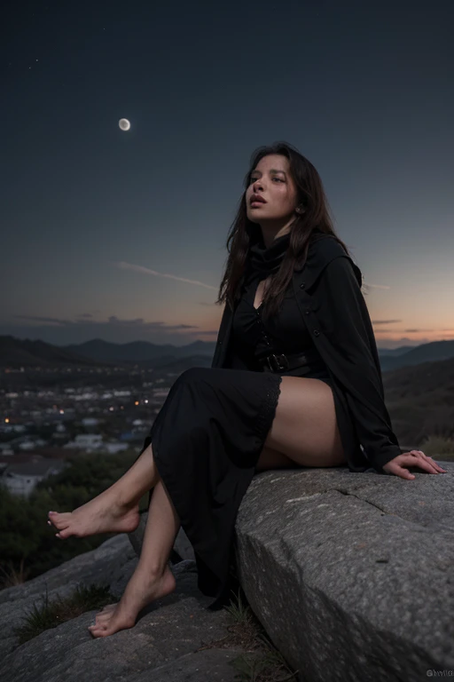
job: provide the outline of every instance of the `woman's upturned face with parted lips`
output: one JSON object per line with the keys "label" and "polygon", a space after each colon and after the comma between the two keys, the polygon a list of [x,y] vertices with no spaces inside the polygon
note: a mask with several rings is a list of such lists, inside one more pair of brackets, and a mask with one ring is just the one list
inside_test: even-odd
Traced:
{"label": "woman's upturned face with parted lips", "polygon": [[[259,194],[266,203],[251,205],[253,194]],[[283,220],[294,218],[297,206],[297,188],[290,175],[286,156],[263,156],[251,173],[246,191],[247,218],[253,223],[278,226]]]}

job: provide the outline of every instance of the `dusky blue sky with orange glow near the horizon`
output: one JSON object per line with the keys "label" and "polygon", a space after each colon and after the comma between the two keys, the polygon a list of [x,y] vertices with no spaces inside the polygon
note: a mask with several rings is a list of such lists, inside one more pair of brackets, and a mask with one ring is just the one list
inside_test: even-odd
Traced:
{"label": "dusky blue sky with orange glow near the horizon", "polygon": [[0,334],[214,341],[249,159],[285,140],[321,175],[379,347],[453,339],[452,7],[8,3]]}

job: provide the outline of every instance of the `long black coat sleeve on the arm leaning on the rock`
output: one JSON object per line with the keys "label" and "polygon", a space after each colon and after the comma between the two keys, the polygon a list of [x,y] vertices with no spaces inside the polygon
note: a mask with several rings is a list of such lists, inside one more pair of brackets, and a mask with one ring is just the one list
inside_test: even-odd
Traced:
{"label": "long black coat sleeve on the arm leaning on the rock", "polygon": [[[357,268],[358,276],[361,273]],[[379,354],[353,261],[333,258],[322,271],[314,312],[330,369],[340,381],[364,455],[380,472],[401,455],[384,401]]]}

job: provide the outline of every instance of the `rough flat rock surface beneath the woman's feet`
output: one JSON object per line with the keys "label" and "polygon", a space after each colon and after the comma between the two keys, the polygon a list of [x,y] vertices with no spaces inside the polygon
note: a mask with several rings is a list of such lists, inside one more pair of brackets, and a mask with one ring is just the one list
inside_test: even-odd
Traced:
{"label": "rough flat rock surface beneath the woman's feet", "polygon": [[18,646],[12,627],[34,603],[65,597],[80,583],[109,584],[118,599],[137,565],[128,535],[115,535],[98,547],[33,580],[0,591],[0,679],[2,682],[233,682],[231,662],[239,648],[198,649],[228,634],[225,610],[209,611],[212,598],[197,588],[193,560],[172,567],[176,591],[153,602],[134,628],[92,638],[88,626],[98,609],[44,630]]}

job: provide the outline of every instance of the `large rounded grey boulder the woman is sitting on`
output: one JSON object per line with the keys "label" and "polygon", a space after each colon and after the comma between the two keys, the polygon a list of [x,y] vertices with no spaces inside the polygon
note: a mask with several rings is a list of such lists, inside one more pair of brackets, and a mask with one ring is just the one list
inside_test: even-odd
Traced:
{"label": "large rounded grey boulder the woman is sitting on", "polygon": [[239,582],[299,679],[454,670],[454,463],[442,466],[414,480],[344,467],[254,476],[236,524]]}

